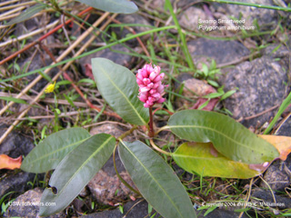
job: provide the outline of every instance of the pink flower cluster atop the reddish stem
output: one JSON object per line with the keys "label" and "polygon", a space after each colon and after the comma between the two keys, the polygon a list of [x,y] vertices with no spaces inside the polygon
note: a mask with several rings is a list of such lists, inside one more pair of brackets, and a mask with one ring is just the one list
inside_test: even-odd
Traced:
{"label": "pink flower cluster atop the reddish stem", "polygon": [[160,74],[161,67],[152,64],[146,64],[142,69],[139,69],[136,74],[136,83],[139,86],[138,98],[142,101],[145,107],[151,107],[156,103],[165,102],[164,94],[165,84],[162,80],[164,73]]}

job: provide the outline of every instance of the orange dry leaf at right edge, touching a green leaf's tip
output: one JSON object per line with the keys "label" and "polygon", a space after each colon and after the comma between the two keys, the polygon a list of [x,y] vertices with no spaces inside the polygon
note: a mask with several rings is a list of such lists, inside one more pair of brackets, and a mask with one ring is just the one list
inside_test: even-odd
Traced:
{"label": "orange dry leaf at right edge, touching a green leaf's tip", "polygon": [[287,155],[291,153],[291,137],[283,135],[259,134],[269,144],[273,144],[280,153],[279,158],[286,161]]}

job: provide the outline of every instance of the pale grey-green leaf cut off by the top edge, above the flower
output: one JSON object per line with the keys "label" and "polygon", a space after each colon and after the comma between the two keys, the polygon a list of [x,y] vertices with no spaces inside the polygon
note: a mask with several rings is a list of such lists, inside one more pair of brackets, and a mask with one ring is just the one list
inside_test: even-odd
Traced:
{"label": "pale grey-green leaf cut off by the top edge, above the flower", "polygon": [[138,11],[138,8],[135,5],[135,3],[127,0],[106,0],[106,1],[76,0],[76,1],[112,13],[132,14]]}

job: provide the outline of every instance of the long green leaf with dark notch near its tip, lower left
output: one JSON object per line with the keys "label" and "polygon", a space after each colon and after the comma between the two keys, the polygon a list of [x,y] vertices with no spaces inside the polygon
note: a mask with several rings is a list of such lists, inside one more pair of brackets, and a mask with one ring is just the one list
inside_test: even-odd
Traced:
{"label": "long green leaf with dark notch near its tip, lower left", "polygon": [[41,203],[44,206],[40,207],[39,214],[48,216],[64,210],[106,163],[114,148],[112,135],[95,134],[67,154],[52,174],[50,188],[43,193]]}

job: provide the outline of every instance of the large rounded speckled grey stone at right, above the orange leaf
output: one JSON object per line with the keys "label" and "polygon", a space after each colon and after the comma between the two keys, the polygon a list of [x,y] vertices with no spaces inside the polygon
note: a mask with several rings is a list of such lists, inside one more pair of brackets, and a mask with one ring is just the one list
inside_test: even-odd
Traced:
{"label": "large rounded speckled grey stone at right, above the orange leaf", "polygon": [[[226,74],[223,82],[226,92],[238,88],[236,94],[226,98],[226,109],[235,119],[243,119],[242,124],[246,127],[259,127],[269,122],[277,109],[256,114],[279,106],[289,92],[286,87],[289,66],[285,58],[277,60],[275,56],[264,55],[252,62],[238,64]],[[249,116],[255,117],[244,120]]]}

